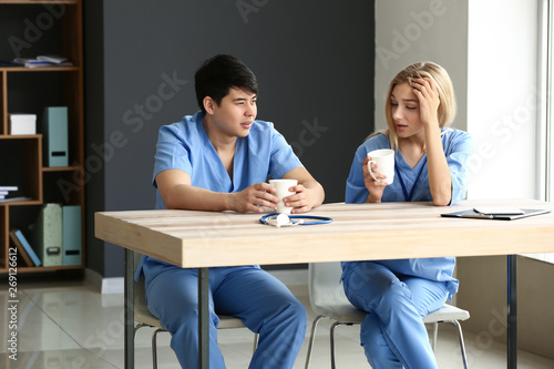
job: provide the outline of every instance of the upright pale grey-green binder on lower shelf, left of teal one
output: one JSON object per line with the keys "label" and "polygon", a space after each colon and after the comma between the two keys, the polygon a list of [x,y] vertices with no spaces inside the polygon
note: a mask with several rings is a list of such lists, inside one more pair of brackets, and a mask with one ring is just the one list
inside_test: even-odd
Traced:
{"label": "upright pale grey-green binder on lower shelf, left of teal one", "polygon": [[62,265],[62,207],[60,204],[45,204],[32,230],[33,248],[42,265]]}

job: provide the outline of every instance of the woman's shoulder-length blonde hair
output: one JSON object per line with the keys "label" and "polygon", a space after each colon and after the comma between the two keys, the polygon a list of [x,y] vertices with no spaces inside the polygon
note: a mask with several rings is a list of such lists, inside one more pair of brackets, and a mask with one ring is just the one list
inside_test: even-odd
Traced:
{"label": "woman's shoulder-length blonde hair", "polygon": [[397,84],[410,84],[416,78],[430,78],[433,79],[437,84],[437,90],[439,92],[440,99],[439,109],[437,111],[439,126],[442,129],[454,121],[456,110],[454,88],[452,86],[452,81],[450,80],[450,75],[448,74],[448,72],[442,66],[433,62],[418,62],[408,65],[402,71],[400,71],[400,73],[398,73],[397,76],[394,76],[390,82],[389,93],[387,94],[387,100],[384,103],[384,116],[387,117],[387,125],[389,129],[384,132],[376,132],[376,134],[384,133],[386,135],[388,135],[392,150],[398,148],[398,135],[394,127],[394,121],[392,120],[392,91],[394,90]]}

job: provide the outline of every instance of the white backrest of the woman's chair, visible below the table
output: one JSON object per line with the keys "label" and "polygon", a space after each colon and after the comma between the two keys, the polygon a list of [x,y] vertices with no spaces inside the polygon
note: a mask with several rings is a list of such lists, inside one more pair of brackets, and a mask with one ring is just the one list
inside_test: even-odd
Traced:
{"label": "white backrest of the woman's chair, visible below the table", "polygon": [[308,269],[308,287],[312,307],[350,305],[340,283],[342,276],[340,262],[310,263]]}

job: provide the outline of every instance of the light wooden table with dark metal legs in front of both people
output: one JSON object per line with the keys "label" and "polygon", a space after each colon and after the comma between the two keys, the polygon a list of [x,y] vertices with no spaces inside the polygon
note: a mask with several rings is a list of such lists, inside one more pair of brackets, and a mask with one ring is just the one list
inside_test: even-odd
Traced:
{"label": "light wooden table with dark metal legs in front of both people", "polygon": [[[554,252],[554,212],[512,222],[458,219],[441,213],[512,205],[554,211],[531,199],[430,203],[326,204],[309,215],[331,224],[270,227],[259,214],[132,211],[95,214],[95,236],[125,247],[125,368],[134,366],[131,250],[185,268],[198,268],[201,367],[208,367],[208,267],[443,256],[509,256],[507,367],[516,368],[515,254]],[[462,281],[463,283],[463,281]]]}

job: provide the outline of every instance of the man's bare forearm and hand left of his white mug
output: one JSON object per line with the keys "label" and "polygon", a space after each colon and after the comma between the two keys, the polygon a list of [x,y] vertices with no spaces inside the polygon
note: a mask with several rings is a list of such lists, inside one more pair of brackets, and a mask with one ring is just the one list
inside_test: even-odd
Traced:
{"label": "man's bare forearm and hand left of his white mug", "polygon": [[238,193],[218,193],[193,186],[188,173],[179,170],[161,172],[156,184],[168,209],[261,213],[261,206],[275,207],[279,201],[267,183],[253,184]]}

